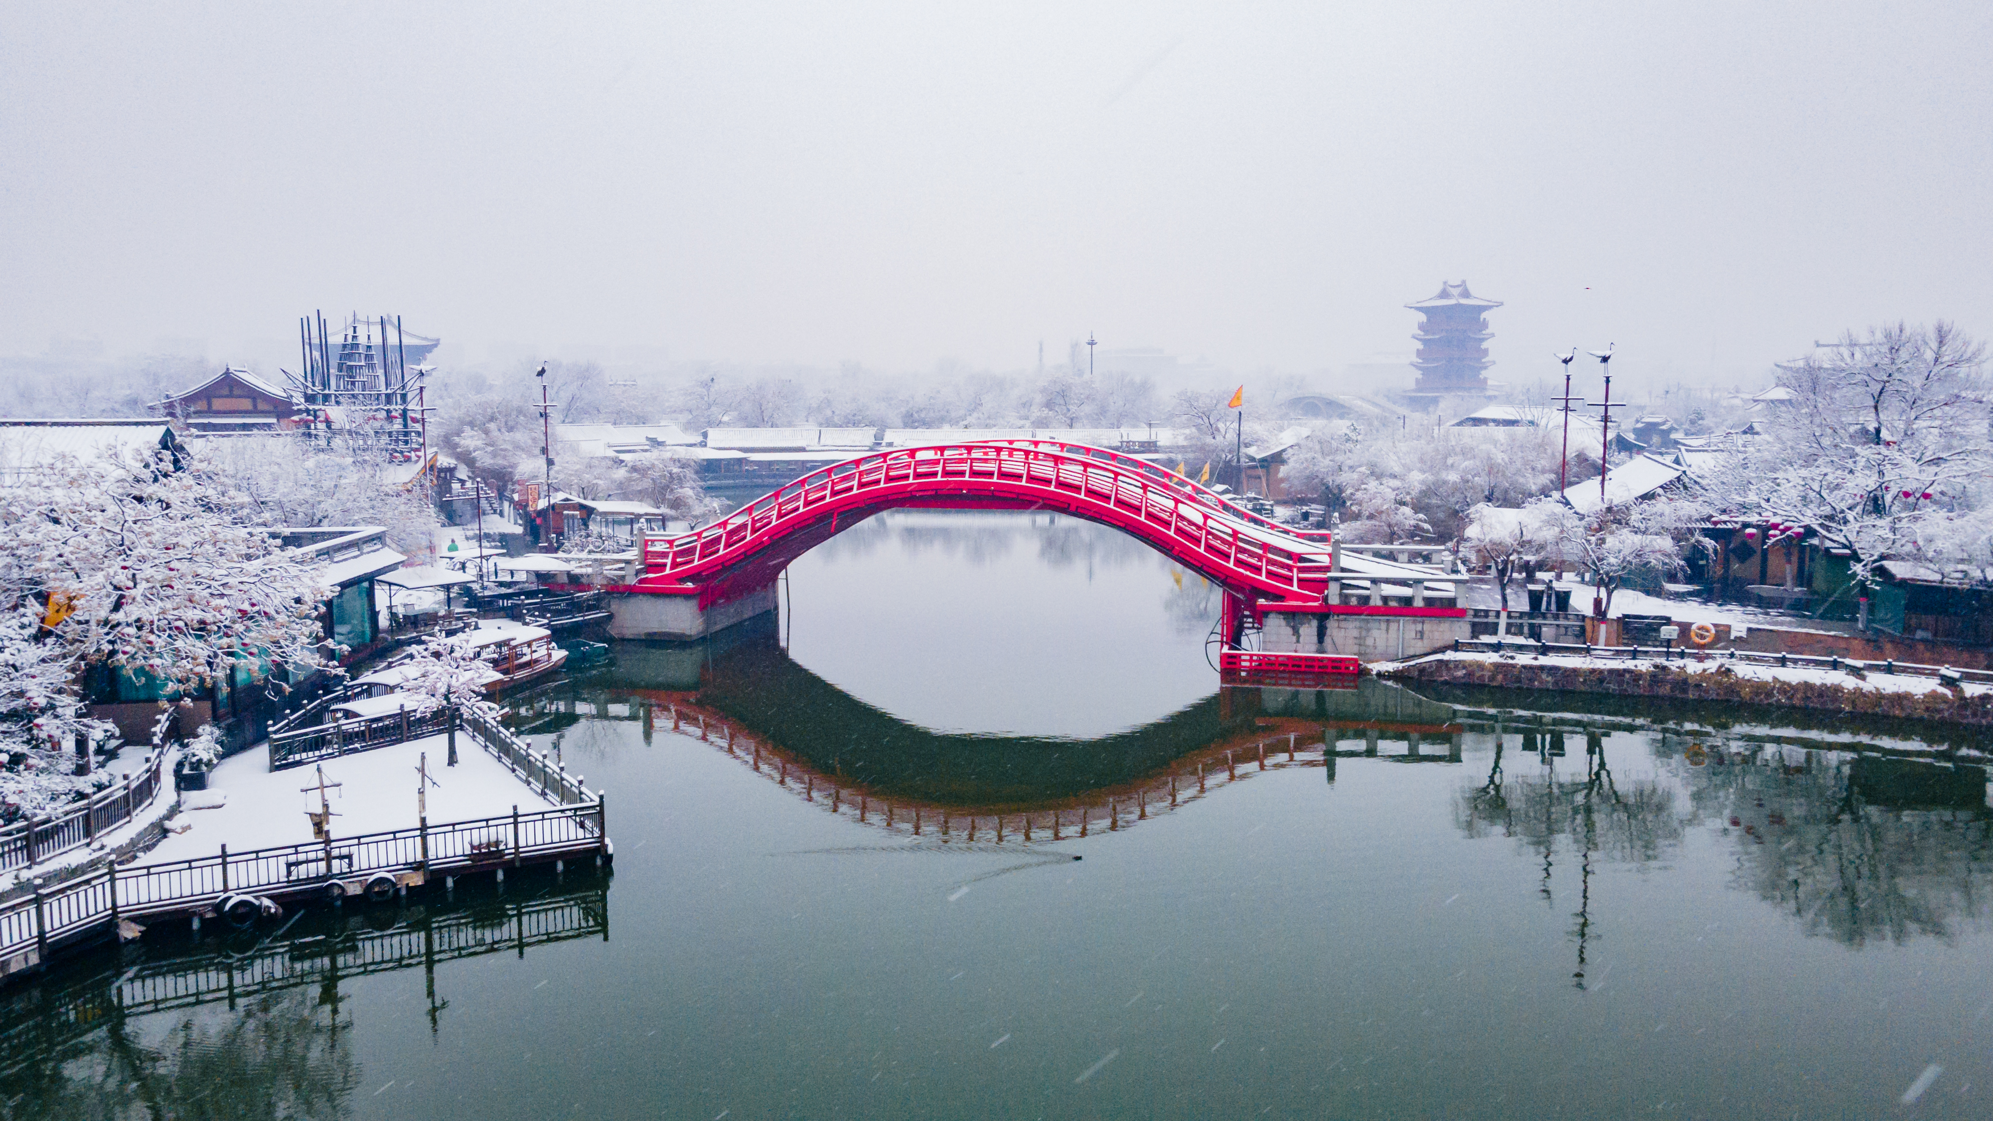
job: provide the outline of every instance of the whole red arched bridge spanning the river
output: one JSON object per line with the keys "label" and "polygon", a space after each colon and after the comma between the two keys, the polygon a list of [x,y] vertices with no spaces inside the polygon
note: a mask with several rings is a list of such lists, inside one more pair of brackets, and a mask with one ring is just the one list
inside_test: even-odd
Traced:
{"label": "whole red arched bridge spanning the river", "polygon": [[[614,591],[696,597],[704,613],[769,587],[813,546],[895,508],[1054,510],[1112,526],[1226,589],[1234,641],[1240,619],[1268,611],[1453,613],[1453,587],[1443,573],[1345,558],[1323,530],[1281,526],[1148,460],[1052,440],[891,448],[819,468],[712,526],[646,538],[634,581]],[[1445,605],[1429,607],[1425,581],[1435,577],[1435,595]],[[1345,579],[1369,603],[1343,605]],[[646,633],[628,629],[632,637]],[[1331,653],[1325,647],[1335,645],[1325,627],[1305,643],[1299,625],[1295,643],[1283,649],[1299,653],[1313,645],[1313,653]]]}

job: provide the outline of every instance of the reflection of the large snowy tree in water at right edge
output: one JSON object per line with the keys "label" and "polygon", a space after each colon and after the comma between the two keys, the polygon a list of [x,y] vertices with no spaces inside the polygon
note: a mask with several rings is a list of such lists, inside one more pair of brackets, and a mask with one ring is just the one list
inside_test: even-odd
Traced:
{"label": "reflection of the large snowy tree in water at right edge", "polygon": [[1684,745],[1690,800],[1738,850],[1738,886],[1846,946],[1955,936],[1993,898],[1985,767]]}

